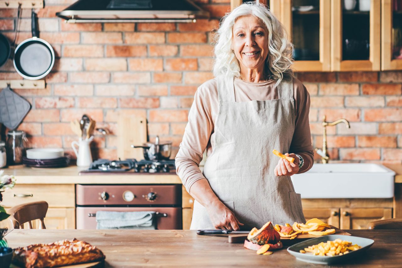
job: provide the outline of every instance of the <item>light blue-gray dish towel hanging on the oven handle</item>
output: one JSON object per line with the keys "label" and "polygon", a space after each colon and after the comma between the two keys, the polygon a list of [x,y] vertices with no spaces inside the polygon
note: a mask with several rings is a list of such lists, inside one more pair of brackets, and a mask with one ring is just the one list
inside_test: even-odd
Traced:
{"label": "light blue-gray dish towel hanging on the oven handle", "polygon": [[156,229],[155,211],[96,211],[96,229]]}

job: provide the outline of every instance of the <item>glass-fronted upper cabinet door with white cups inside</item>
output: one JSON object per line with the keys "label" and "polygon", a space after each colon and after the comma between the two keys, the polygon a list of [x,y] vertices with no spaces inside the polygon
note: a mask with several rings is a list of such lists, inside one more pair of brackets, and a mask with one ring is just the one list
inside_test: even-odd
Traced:
{"label": "glass-fronted upper cabinet door with white cups inside", "polygon": [[331,71],[379,71],[381,0],[331,0]]}

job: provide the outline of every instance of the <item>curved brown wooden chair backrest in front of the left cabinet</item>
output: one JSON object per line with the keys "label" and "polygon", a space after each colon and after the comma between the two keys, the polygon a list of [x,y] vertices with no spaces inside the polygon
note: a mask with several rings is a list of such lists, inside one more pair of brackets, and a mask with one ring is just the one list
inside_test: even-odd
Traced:
{"label": "curved brown wooden chair backrest in front of the left cabinet", "polygon": [[33,220],[39,219],[38,229],[46,229],[43,218],[46,217],[47,208],[49,205],[46,201],[36,201],[31,203],[25,203],[21,205],[16,205],[11,209],[8,209],[7,213],[10,214],[8,217],[11,227],[14,229],[24,228],[24,223],[29,223],[29,229],[32,229]]}

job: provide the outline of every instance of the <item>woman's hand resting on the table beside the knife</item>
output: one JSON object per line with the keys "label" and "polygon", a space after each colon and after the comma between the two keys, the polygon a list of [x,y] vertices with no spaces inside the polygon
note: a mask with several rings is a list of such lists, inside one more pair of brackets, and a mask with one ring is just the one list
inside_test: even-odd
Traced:
{"label": "woman's hand resting on the table beside the knife", "polygon": [[234,216],[234,213],[228,209],[220,200],[211,203],[207,207],[209,219],[211,219],[213,227],[215,229],[227,229],[237,231],[240,229],[240,223]]}

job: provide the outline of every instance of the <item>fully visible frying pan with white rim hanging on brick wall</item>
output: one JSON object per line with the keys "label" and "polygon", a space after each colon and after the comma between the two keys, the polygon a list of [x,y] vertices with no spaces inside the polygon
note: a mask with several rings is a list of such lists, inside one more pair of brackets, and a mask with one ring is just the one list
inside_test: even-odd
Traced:
{"label": "fully visible frying pan with white rim hanging on brick wall", "polygon": [[51,71],[54,51],[49,43],[38,38],[36,14],[31,16],[32,38],[22,41],[14,52],[14,68],[23,78],[41,79]]}

